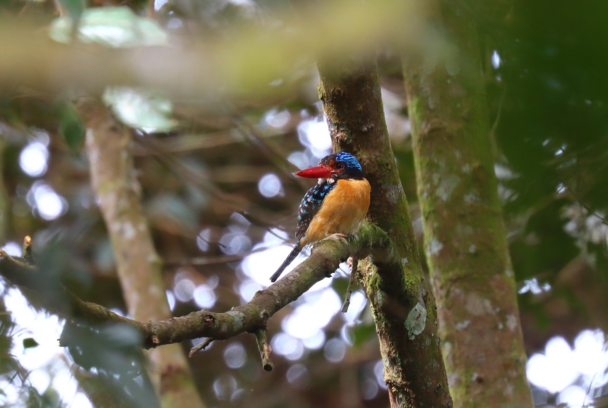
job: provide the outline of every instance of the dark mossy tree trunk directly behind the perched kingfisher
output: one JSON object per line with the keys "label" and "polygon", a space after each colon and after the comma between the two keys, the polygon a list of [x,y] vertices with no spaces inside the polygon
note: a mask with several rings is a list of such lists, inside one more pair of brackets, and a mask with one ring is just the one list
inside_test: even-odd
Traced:
{"label": "dark mossy tree trunk directly behind the perched kingfisher", "polygon": [[371,184],[368,218],[387,231],[400,265],[359,262],[380,340],[393,407],[451,407],[437,336],[435,300],[424,280],[416,238],[390,147],[375,57],[319,63],[320,99],[336,151],[354,153]]}

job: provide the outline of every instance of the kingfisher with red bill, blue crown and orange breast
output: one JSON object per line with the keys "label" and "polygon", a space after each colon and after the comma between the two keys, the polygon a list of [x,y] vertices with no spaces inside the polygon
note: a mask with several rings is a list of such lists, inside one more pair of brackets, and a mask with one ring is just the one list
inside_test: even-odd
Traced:
{"label": "kingfisher with red bill, blue crown and orange breast", "polygon": [[330,235],[345,238],[357,232],[370,208],[370,183],[361,164],[350,153],[330,154],[323,157],[318,166],[300,170],[295,175],[318,178],[319,182],[300,202],[295,247],[274,272],[271,282],[277,280],[305,246]]}

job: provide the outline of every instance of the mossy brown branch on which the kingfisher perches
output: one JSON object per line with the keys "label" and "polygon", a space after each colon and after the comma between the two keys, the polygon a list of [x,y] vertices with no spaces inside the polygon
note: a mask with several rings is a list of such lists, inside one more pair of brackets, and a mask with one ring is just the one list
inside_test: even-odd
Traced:
{"label": "mossy brown branch on which the kingfisher perches", "polygon": [[[313,247],[308,259],[285,277],[268,288],[256,292],[253,299],[244,305],[236,306],[224,313],[203,309],[167,320],[140,322],[120,316],[96,303],[85,302],[61,288],[70,306],[69,313],[64,311],[61,314],[66,318],[89,323],[126,323],[142,334],[144,348],[154,348],[199,337],[225,340],[241,333],[255,334],[265,330],[268,319],[277,311],[298,299],[315,283],[331,275],[340,262],[351,254],[357,254],[360,258],[371,255],[372,260],[381,263],[398,262],[395,248],[388,235],[379,227],[365,222],[358,235],[349,240],[330,237],[321,241]],[[28,265],[0,251],[0,275],[8,278],[12,283],[36,289],[31,282],[35,282],[41,273],[36,266]],[[261,334],[258,336],[261,338]],[[263,354],[266,355],[268,352]]]}

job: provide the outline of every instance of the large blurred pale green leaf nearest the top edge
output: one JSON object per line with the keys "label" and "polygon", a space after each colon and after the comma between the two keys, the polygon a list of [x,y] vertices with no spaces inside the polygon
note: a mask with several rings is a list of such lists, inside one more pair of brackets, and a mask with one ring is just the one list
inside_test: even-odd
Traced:
{"label": "large blurred pale green leaf nearest the top edge", "polygon": [[[50,26],[50,38],[69,44],[73,25],[72,17],[55,19]],[[126,6],[86,9],[80,16],[78,40],[114,48],[168,45],[167,33],[156,21],[140,17]]]}

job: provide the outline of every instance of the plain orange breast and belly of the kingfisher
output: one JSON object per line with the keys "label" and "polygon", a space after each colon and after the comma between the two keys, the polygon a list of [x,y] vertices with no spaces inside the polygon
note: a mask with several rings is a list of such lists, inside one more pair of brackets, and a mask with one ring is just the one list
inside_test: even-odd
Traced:
{"label": "plain orange breast and belly of the kingfisher", "polygon": [[370,208],[370,192],[366,179],[338,180],[306,229],[306,243],[320,241],[333,233],[357,232]]}

